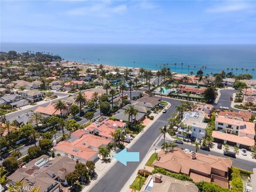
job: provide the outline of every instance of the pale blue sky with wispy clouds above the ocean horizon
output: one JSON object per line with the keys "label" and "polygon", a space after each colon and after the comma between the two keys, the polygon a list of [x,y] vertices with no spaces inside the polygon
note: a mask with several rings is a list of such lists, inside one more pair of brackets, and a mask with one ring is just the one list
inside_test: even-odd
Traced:
{"label": "pale blue sky with wispy clouds above the ocean horizon", "polygon": [[256,2],[1,1],[1,42],[256,44]]}

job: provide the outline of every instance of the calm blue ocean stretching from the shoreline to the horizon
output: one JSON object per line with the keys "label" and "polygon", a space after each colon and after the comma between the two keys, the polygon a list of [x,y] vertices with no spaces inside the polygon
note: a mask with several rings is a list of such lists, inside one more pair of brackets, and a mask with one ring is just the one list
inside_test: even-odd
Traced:
{"label": "calm blue ocean stretching from the shoreline to the horizon", "polygon": [[[164,63],[176,71],[188,73],[206,66],[206,73],[221,70],[241,74],[241,68],[256,69],[256,45],[165,45],[165,44],[46,44],[1,43],[1,51],[50,52],[69,61],[102,63],[104,65],[160,69]],[[183,69],[181,63],[184,63]],[[238,68],[236,71],[235,69]],[[253,74],[256,78],[256,71]]]}

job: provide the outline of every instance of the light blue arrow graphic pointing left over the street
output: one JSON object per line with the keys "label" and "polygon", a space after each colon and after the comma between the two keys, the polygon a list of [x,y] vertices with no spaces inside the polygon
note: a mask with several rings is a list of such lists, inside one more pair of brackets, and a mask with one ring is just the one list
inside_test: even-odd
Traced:
{"label": "light blue arrow graphic pointing left over the street", "polygon": [[127,149],[124,148],[118,154],[114,155],[114,158],[126,166],[127,162],[139,162],[140,161],[140,153],[139,152],[127,152]]}

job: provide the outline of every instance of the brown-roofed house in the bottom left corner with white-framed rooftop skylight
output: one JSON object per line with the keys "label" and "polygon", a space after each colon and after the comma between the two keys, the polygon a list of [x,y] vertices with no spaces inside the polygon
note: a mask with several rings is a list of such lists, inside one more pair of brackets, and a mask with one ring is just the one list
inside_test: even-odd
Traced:
{"label": "brown-roofed house in the bottom left corner with white-framed rooftop skylight", "polygon": [[61,185],[67,186],[66,175],[75,170],[76,162],[66,156],[50,159],[42,155],[31,160],[7,177],[9,185],[22,182],[22,191],[59,192]]}

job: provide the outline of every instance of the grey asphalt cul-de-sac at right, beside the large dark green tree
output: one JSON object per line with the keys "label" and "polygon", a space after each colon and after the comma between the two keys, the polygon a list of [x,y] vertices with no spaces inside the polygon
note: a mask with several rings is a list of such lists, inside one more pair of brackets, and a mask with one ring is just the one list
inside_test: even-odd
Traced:
{"label": "grey asphalt cul-de-sac at right, beside the large dark green tree", "polygon": [[[230,101],[230,97],[232,97],[233,93],[236,93],[237,90],[230,90],[230,89],[226,89],[226,90],[221,90],[220,91],[220,99],[218,101],[218,103],[216,103],[216,105],[214,105],[214,108],[220,108],[220,107],[228,107],[229,109],[231,109],[230,105],[231,105],[231,101]],[[233,109],[236,110],[236,109]]]}

